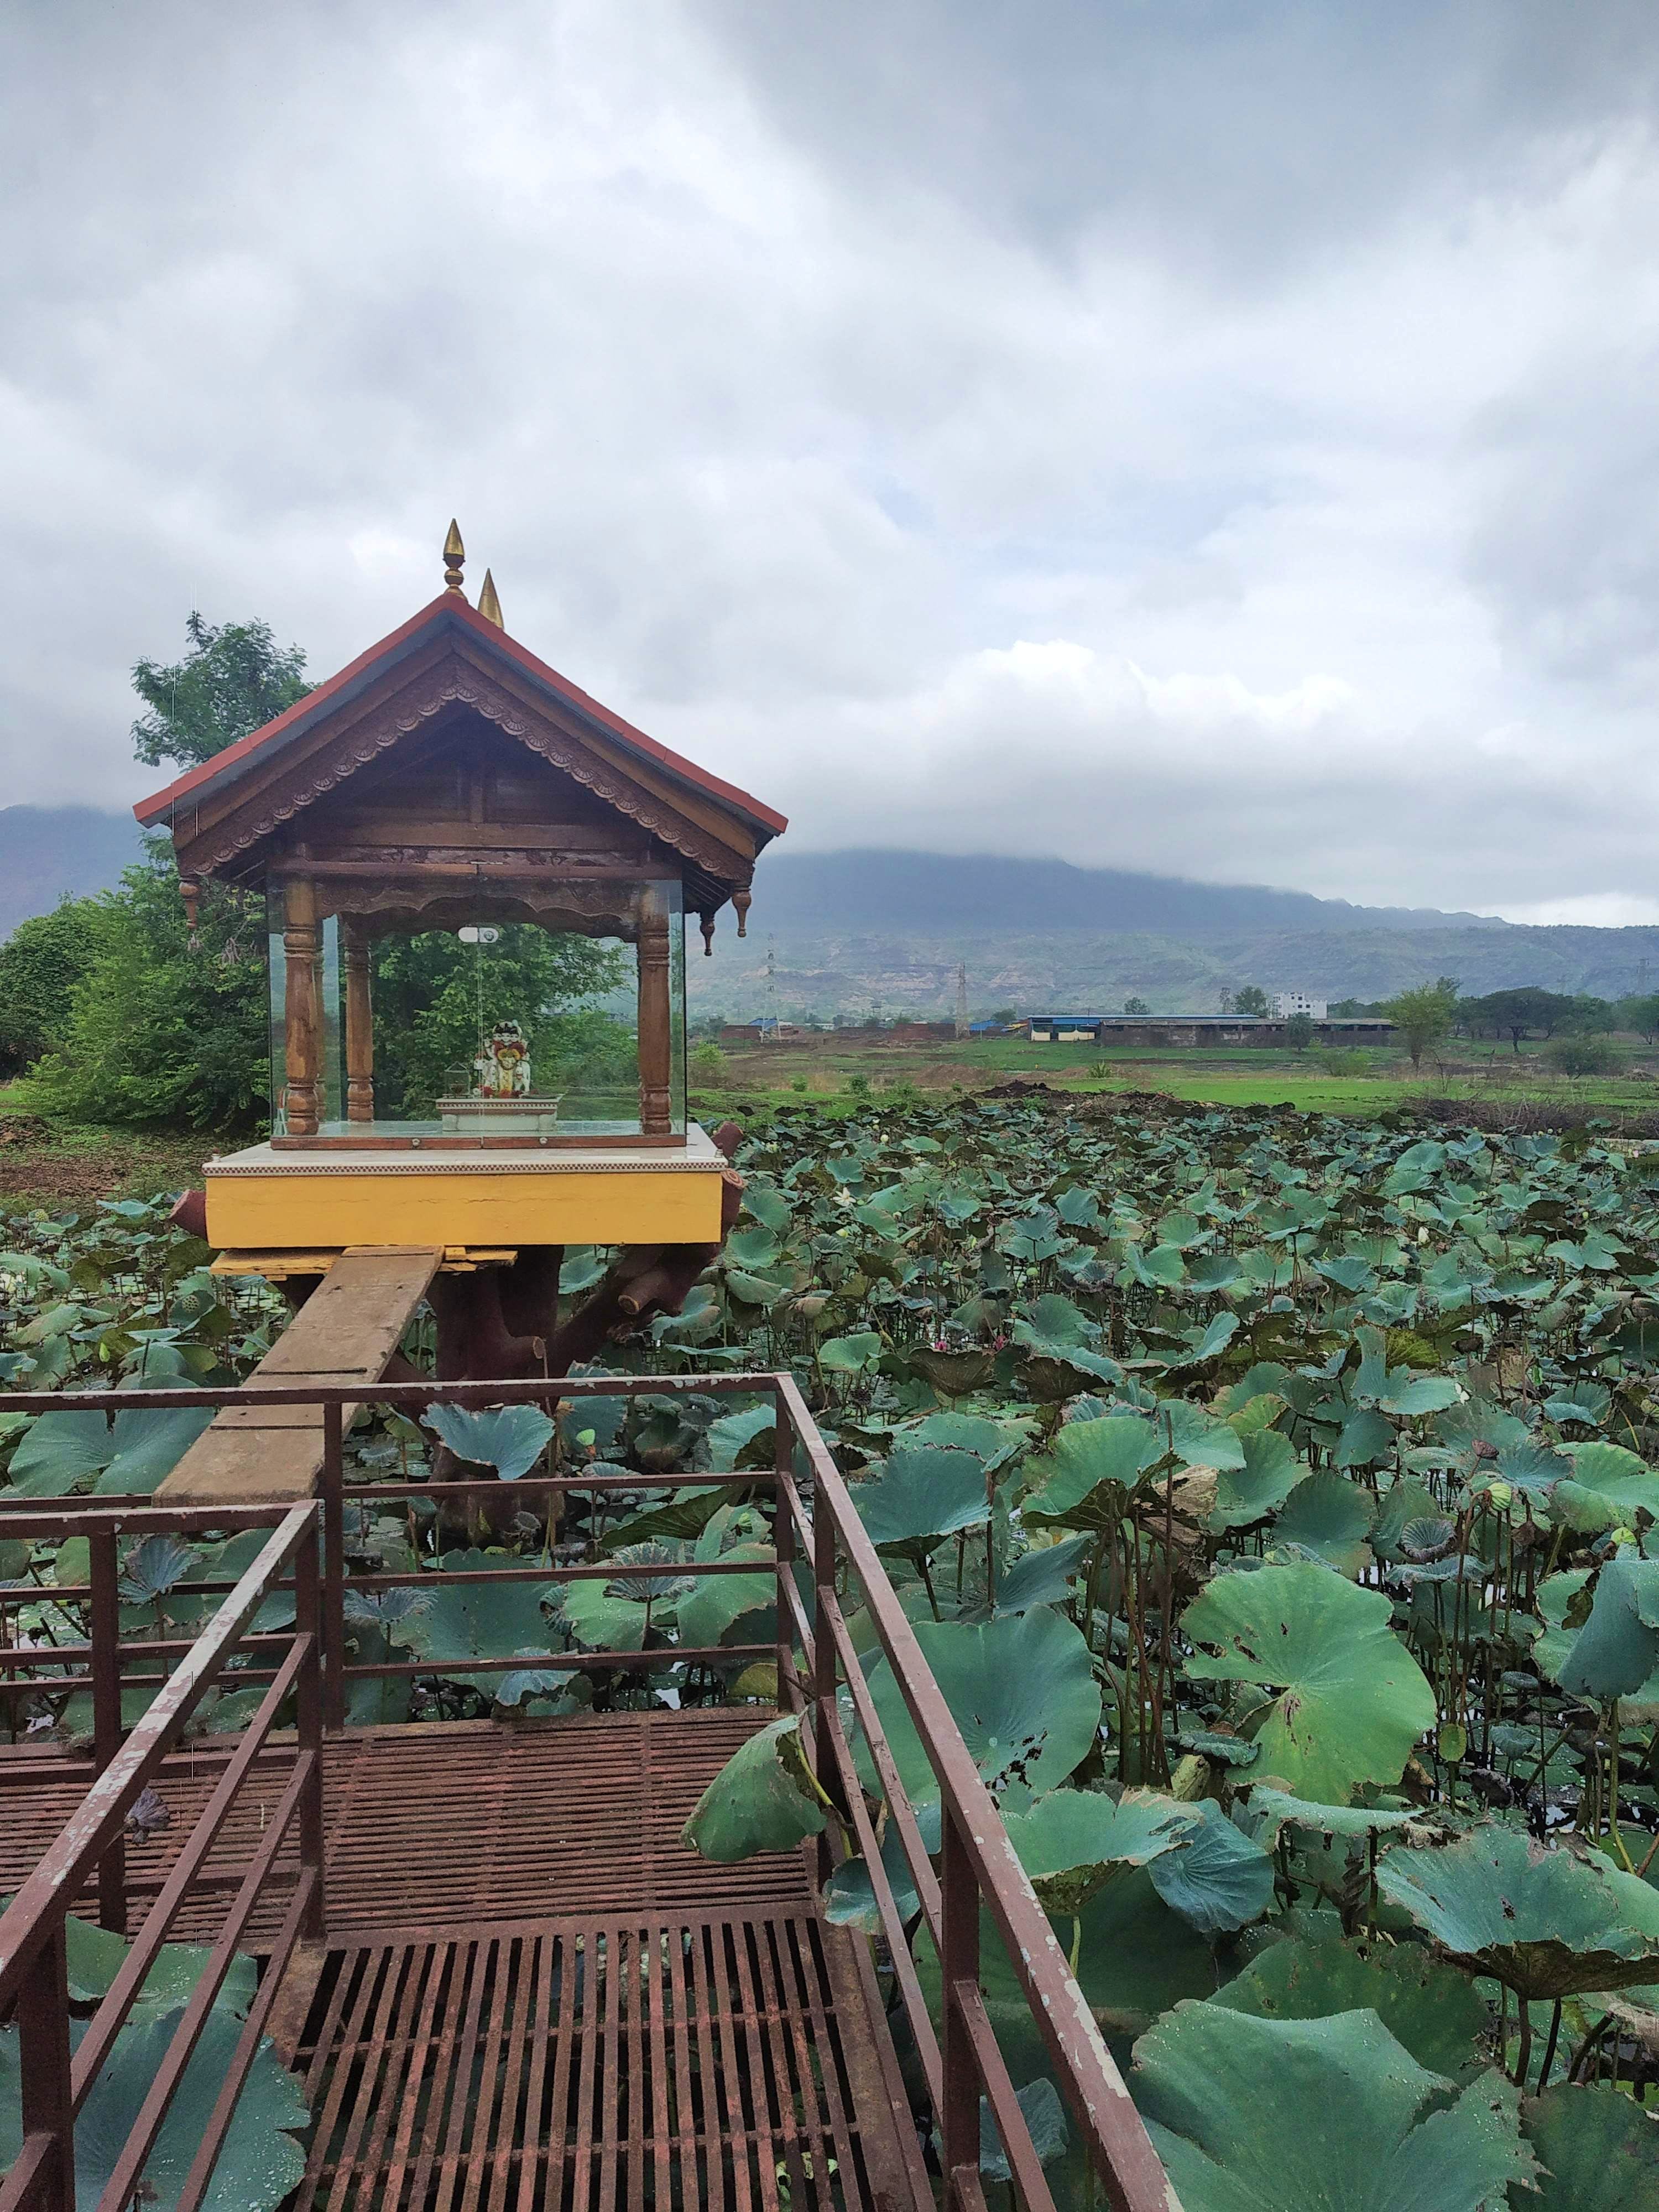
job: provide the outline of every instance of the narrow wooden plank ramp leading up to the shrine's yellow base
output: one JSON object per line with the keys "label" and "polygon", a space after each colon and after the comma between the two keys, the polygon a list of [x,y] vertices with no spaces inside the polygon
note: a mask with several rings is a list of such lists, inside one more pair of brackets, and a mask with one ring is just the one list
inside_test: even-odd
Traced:
{"label": "narrow wooden plank ramp leading up to the shrine's yellow base", "polygon": [[[243,1383],[378,1383],[442,1252],[385,1248],[345,1252]],[[347,1409],[349,1420],[349,1409]],[[307,1405],[228,1405],[155,1493],[159,1506],[294,1504],[323,1471],[323,1413]]]}

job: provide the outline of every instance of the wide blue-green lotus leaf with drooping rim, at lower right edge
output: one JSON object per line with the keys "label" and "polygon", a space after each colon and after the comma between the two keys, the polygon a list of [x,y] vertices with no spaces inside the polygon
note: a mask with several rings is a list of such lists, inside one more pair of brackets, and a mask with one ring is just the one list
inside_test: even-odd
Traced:
{"label": "wide blue-green lotus leaf with drooping rim, at lower right edge", "polygon": [[1632,1878],[1542,1845],[1513,1827],[1484,1825],[1440,1849],[1396,1847],[1378,1860],[1378,1891],[1471,1973],[1489,1973],[1520,1997],[1571,1997],[1624,1989],[1659,1973],[1659,1891],[1650,1931],[1635,1922]]}

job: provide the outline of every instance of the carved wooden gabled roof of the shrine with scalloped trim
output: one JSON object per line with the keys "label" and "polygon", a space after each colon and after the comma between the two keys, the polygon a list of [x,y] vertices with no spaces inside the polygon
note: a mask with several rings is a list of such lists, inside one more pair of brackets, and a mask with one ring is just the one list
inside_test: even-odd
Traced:
{"label": "carved wooden gabled roof of the shrine with scalloped trim", "polygon": [[[591,818],[597,803],[633,825],[639,858],[679,860],[686,902],[706,914],[748,887],[754,856],[785,827],[772,807],[635,730],[449,591],[133,812],[173,830],[184,874],[248,880],[281,869],[294,845],[338,843],[343,807],[356,821],[396,807],[405,759],[500,752],[502,739],[555,772],[542,772],[549,790],[582,799],[560,816]],[[431,838],[445,841],[442,825]],[[380,852],[389,867],[420,865],[416,852],[400,849],[396,860],[394,847]],[[562,865],[555,852],[524,852],[520,863],[520,874]]]}

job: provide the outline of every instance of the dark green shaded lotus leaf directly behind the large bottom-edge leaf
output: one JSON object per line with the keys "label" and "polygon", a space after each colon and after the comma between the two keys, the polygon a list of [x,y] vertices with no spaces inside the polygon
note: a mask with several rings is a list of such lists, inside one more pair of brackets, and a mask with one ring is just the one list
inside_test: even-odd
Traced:
{"label": "dark green shaded lotus leaf directly behind the large bottom-edge leaf", "polygon": [[1270,1944],[1210,2004],[1261,2020],[1378,2015],[1418,2066],[1469,2081],[1482,2070],[1486,2002],[1467,1973],[1442,1966],[1418,1944],[1367,1949],[1332,1931]]}

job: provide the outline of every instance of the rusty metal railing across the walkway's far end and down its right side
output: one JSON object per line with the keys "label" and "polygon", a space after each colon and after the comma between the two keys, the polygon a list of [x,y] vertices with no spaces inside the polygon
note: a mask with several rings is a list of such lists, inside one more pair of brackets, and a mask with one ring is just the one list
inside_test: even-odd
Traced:
{"label": "rusty metal railing across the walkway's far end and down its right side", "polygon": [[[630,1398],[630,1396],[763,1396],[774,1407],[774,1453],[770,1469],[741,1469],[730,1473],[672,1473],[653,1480],[650,1475],[617,1473],[593,1475],[571,1471],[562,1475],[524,1475],[502,1482],[500,1478],[469,1478],[465,1482],[414,1482],[376,1480],[347,1484],[345,1480],[345,1427],[349,1409],[363,1402],[394,1407],[418,1413],[429,1405],[498,1407],[498,1405],[542,1405],[549,1411],[560,1400],[573,1398]],[[998,2048],[995,2031],[980,1989],[980,1916],[982,1909],[1002,1942],[1009,1966],[1020,1984],[1031,2017],[1042,2035],[1055,2081],[1079,2130],[1091,2168],[1104,2190],[1113,2212],[1179,2212],[1175,2192],[1164,2174],[1152,2141],[1130,2101],[1128,2088],[1106,2051],[1099,2028],[1088,2011],[1066,1955],[1048,1924],[1037,1896],[1009,1843],[991,1792],[984,1787],[973,1756],[962,1741],[945,1697],[922,1657],[911,1624],[887,1579],[880,1557],[869,1542],[863,1520],[852,1502],[845,1478],[834,1464],[812,1413],[792,1376],[783,1374],[723,1374],[723,1376],[580,1376],[580,1378],[531,1378],[500,1383],[376,1383],[376,1385],[299,1385],[292,1389],[259,1389],[261,1407],[316,1407],[323,1416],[323,1566],[321,1566],[321,1710],[323,1725],[338,1730],[345,1721],[347,1686],[376,1677],[442,1677],[449,1672],[487,1674],[522,1670],[533,1666],[546,1672],[591,1672],[599,1668],[661,1668],[675,1663],[739,1668],[757,1659],[776,1666],[779,1703],[803,1714],[810,1732],[810,1750],[818,1783],[825,1794],[845,1812],[852,1840],[863,1854],[876,1898],[887,1962],[894,1973],[898,2000],[902,2004],[920,2068],[927,2081],[931,2121],[938,2137],[940,2163],[947,2177],[949,2203],[960,2212],[984,2212],[980,2183],[980,2099],[984,2097],[998,2135],[1004,2146],[1013,2188],[1026,2212],[1053,2212],[1053,2194],[1042,2172],[1031,2128],[1018,2104],[1013,2079]],[[77,1396],[75,1407],[113,1411],[142,1411],[146,1407],[219,1407],[241,1400],[241,1391],[111,1391]],[[7,1394],[4,1405],[18,1411],[49,1411],[64,1407],[62,1394]],[[812,1502],[803,1500],[803,1480],[812,1486]],[[522,1652],[507,1659],[478,1655],[422,1652],[411,1659],[387,1659],[347,1663],[345,1659],[345,1593],[389,1590],[407,1586],[429,1586],[429,1573],[345,1573],[345,1506],[354,1502],[392,1502],[405,1498],[445,1498],[458,1502],[469,1495],[500,1498],[504,1489],[522,1498],[544,1498],[549,1502],[564,1493],[639,1491],[639,1489],[743,1489],[774,1500],[774,1590],[776,1590],[776,1644],[719,1644],[710,1648],[653,1646],[646,1650],[566,1650],[526,1657]],[[88,1500],[97,1506],[100,1500]],[[153,1515],[153,1524],[177,1526],[179,1515],[170,1509],[155,1509],[148,1500],[104,1500],[119,1506],[131,1526],[135,1509]],[[0,1498],[0,1533],[20,1533],[13,1509],[4,1509]],[[223,1528],[234,1515],[219,1506],[195,1509],[199,1526]],[[75,1526],[84,1528],[80,1515]],[[686,1562],[686,1571],[697,1577],[719,1573],[754,1575],[754,1562]],[[584,1579],[628,1582],[661,1575],[664,1566],[630,1566],[626,1562],[591,1559],[573,1566],[518,1566],[458,1571],[473,1582],[535,1582],[568,1584]],[[246,1582],[246,1577],[243,1577]],[[810,1599],[803,1597],[810,1590]],[[887,1655],[894,1679],[900,1688],[911,1723],[927,1754],[938,1783],[942,1812],[942,1849],[938,1867],[925,1847],[916,1809],[911,1807],[887,1743],[876,1703],[869,1694],[858,1652],[847,1630],[847,1593],[856,1593],[876,1628],[880,1650]],[[212,1590],[215,1584],[179,1584],[190,1590]],[[217,1588],[223,1588],[217,1586]],[[239,1586],[241,1590],[241,1586]],[[42,1593],[46,1595],[46,1593]],[[55,1593],[86,1595],[86,1593]],[[97,1608],[93,1608],[97,1621]],[[215,1624],[217,1626],[217,1624]],[[97,1637],[97,1628],[93,1628]],[[139,1644],[137,1650],[155,1652],[155,1644]],[[18,1655],[0,1655],[15,1659]],[[60,1659],[62,1652],[35,1655]],[[177,1677],[173,1677],[177,1681]],[[246,1679],[246,1677],[243,1677]],[[883,1867],[876,1818],[858,1776],[852,1743],[841,1719],[841,1690],[852,1701],[858,1732],[865,1739],[872,1767],[880,1781],[887,1820],[898,1832],[909,1878],[920,1900],[920,1920],[940,1960],[940,2024],[936,2028],[929,2013],[916,1964],[911,1960],[909,1929],[894,1898],[891,1880]],[[35,1686],[40,1688],[40,1686]],[[55,1688],[55,1686],[49,1686]],[[0,1683],[4,1690],[4,1683]],[[166,1692],[164,1692],[166,1694]],[[261,1712],[274,1712],[274,1705]],[[827,1865],[825,1869],[827,1871]],[[15,1911],[15,1907],[13,1907]],[[0,1922],[0,1927],[4,1927]],[[898,2112],[900,2139],[914,2132],[909,2115]],[[46,2199],[51,2201],[51,2199]],[[18,2199],[24,2203],[24,2199]],[[0,2194],[0,2212],[11,2212],[11,2197]],[[188,2212],[188,2208],[186,2208]]]}

